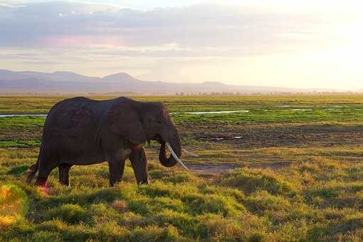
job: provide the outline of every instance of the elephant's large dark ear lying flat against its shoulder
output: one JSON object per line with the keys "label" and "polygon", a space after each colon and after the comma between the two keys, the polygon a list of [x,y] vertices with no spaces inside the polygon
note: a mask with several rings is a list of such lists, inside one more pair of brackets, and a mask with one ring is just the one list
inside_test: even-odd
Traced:
{"label": "elephant's large dark ear lying flat against its shoulder", "polygon": [[115,102],[107,113],[107,120],[112,132],[125,137],[133,144],[142,144],[146,141],[140,115],[132,102]]}

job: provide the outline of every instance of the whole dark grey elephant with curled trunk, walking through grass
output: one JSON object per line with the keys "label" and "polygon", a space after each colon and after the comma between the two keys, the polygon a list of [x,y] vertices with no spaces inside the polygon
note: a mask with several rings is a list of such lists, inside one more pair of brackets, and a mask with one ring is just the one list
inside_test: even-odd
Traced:
{"label": "whole dark grey elephant with curled trunk, walking through grass", "polygon": [[[159,162],[174,167],[181,157],[181,139],[167,108],[159,102],[138,102],[120,97],[92,100],[78,97],[56,103],[43,127],[38,161],[28,172],[30,184],[38,172],[37,186],[46,186],[58,167],[59,181],[69,186],[73,165],[98,164],[107,160],[110,186],[122,179],[129,158],[137,184],[148,184],[147,157],[142,144],[159,142]],[[166,147],[172,153],[167,157]],[[186,167],[185,167],[186,168]],[[186,168],[187,169],[187,168]]]}

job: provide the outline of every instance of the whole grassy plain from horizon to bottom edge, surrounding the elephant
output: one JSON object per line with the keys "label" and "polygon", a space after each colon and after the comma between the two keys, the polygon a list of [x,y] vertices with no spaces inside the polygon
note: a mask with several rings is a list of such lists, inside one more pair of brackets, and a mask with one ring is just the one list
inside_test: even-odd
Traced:
{"label": "whole grassy plain from horizon to bottom edge, surrounding the elephant", "polygon": [[[1,95],[0,114],[46,114],[65,98]],[[167,106],[199,154],[182,157],[191,172],[162,167],[152,142],[149,185],[129,162],[110,188],[102,163],[72,167],[69,187],[55,169],[44,192],[26,171],[45,117],[1,117],[0,212],[22,201],[26,213],[0,220],[0,241],[363,240],[363,95],[133,98]],[[16,187],[24,194],[9,199]]]}

